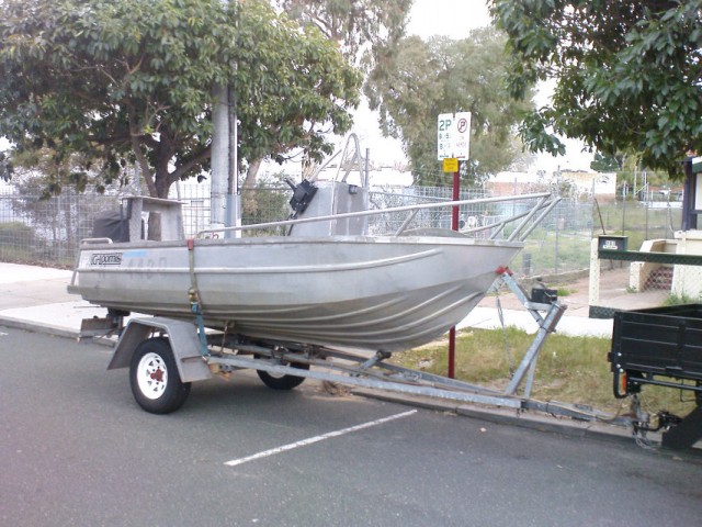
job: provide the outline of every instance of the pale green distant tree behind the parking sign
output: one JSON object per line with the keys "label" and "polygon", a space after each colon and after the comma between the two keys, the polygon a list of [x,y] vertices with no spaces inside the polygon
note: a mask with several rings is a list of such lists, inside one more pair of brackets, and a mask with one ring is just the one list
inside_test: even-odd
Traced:
{"label": "pale green distant tree behind the parking sign", "polygon": [[514,103],[503,87],[503,46],[491,29],[461,41],[411,36],[386,69],[371,76],[365,87],[371,108],[380,111],[383,133],[401,139],[416,182],[449,184],[437,160],[440,113],[472,113],[464,178],[503,170],[519,156],[512,127],[529,103]]}

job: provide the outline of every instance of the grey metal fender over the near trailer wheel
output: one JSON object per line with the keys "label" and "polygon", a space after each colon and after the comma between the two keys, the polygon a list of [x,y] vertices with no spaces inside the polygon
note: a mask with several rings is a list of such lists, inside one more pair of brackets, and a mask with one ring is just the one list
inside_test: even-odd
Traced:
{"label": "grey metal fender over the near trailer wheel", "polygon": [[183,382],[204,381],[212,378],[210,367],[200,352],[197,327],[190,322],[160,316],[132,318],[120,336],[107,369],[128,368],[136,347],[149,338],[154,332],[167,335]]}

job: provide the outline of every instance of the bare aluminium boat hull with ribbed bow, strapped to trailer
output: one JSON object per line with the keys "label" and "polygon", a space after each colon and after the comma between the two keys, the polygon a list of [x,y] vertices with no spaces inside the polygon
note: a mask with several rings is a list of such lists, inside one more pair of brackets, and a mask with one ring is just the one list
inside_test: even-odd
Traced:
{"label": "bare aluminium boat hull with ribbed bow, strapped to trailer", "polygon": [[463,236],[261,237],[81,246],[71,291],[113,310],[286,341],[399,351],[463,319],[521,249]]}

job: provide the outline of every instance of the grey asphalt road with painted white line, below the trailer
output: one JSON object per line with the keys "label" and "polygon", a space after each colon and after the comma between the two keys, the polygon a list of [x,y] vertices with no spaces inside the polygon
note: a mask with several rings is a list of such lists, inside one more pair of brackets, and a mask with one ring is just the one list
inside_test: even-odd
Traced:
{"label": "grey asphalt road with painted white line, below the trailer", "polygon": [[107,348],[0,327],[0,357],[2,526],[702,518],[695,456],[335,396],[314,382],[278,392],[249,372],[196,383],[183,408],[157,416],[136,405],[126,370],[105,370]]}

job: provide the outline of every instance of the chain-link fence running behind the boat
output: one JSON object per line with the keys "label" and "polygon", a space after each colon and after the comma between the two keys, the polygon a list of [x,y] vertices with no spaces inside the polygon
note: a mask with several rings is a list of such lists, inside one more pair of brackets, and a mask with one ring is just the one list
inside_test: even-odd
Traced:
{"label": "chain-link fence running behind the boat", "polygon": [[[242,224],[285,220],[290,215],[292,190],[285,183],[265,184],[247,191],[242,198]],[[124,194],[109,189],[104,194],[65,191],[47,200],[38,195],[18,193],[11,186],[0,188],[0,259],[31,262],[41,266],[71,267],[79,240],[92,234],[93,218],[102,212],[116,210]],[[206,186],[180,183],[171,189],[171,199],[183,203],[185,235],[191,237],[207,228],[210,223],[210,191]],[[488,198],[484,189],[461,192],[460,199]],[[371,209],[388,209],[438,201],[450,201],[452,190],[439,187],[383,188],[370,192]],[[590,267],[590,240],[598,234],[620,234],[629,237],[629,248],[638,250],[650,238],[672,239],[680,225],[680,209],[675,204],[624,201],[599,203],[564,199],[531,233],[519,259],[512,262],[521,277],[558,276],[582,271]],[[496,220],[520,213],[521,202],[462,205],[460,225],[475,228]],[[406,214],[372,216],[372,234],[389,234],[403,224]],[[421,211],[412,227],[451,226],[451,211]],[[475,236],[488,237],[490,232]],[[500,233],[505,237],[509,231]],[[623,264],[616,264],[622,266]],[[664,266],[665,268],[665,266]],[[646,288],[665,289],[672,279],[659,279],[671,271],[649,273]],[[671,287],[671,285],[670,285]],[[632,289],[625,284],[624,289]],[[669,289],[670,291],[670,289]]]}

